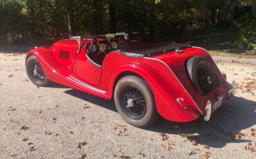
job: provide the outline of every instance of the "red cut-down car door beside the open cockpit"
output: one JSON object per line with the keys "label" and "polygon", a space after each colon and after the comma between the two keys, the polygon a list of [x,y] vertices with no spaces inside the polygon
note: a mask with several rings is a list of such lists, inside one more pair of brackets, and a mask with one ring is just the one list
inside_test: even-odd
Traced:
{"label": "red cut-down car door beside the open cockpit", "polygon": [[73,77],[91,86],[98,86],[102,68],[89,61],[85,50],[85,46],[83,46],[80,53],[76,54],[72,73]]}

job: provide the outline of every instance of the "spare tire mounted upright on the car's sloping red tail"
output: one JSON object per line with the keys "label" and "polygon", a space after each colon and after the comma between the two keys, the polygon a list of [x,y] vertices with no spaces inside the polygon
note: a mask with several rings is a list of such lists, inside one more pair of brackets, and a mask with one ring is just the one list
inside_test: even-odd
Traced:
{"label": "spare tire mounted upright on the car's sloping red tail", "polygon": [[187,62],[190,81],[200,95],[205,95],[219,85],[217,76],[203,57],[191,57]]}

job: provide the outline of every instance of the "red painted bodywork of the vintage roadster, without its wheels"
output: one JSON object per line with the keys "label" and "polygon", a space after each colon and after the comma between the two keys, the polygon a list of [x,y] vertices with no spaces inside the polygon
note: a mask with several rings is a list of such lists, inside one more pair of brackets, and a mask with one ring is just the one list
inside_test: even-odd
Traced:
{"label": "red painted bodywork of the vintage roadster, without its wheels", "polygon": [[[223,95],[224,102],[230,95],[232,86],[203,48],[188,47],[182,49],[182,53],[172,50],[151,57],[131,57],[114,50],[104,57],[102,66],[95,66],[86,56],[86,46],[91,40],[80,41],[84,44],[80,53],[77,53],[77,40],[61,40],[50,48],[28,51],[27,59],[35,55],[51,81],[107,100],[112,98],[120,77],[139,75],[151,88],[158,113],[175,122],[190,122],[205,116],[208,100],[214,104],[218,96]],[[219,79],[219,86],[206,95],[196,92],[184,66],[186,60],[194,56],[206,59]],[[182,99],[183,104],[177,99]]]}

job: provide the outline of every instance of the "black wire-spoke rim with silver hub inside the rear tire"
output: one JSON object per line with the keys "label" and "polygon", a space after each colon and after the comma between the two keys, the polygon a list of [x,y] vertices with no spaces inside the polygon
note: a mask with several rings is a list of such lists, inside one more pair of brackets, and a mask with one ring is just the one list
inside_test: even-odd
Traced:
{"label": "black wire-spoke rim with silver hub inside the rear tire", "polygon": [[120,105],[129,118],[140,120],[147,111],[147,102],[143,93],[134,86],[126,86],[120,95]]}

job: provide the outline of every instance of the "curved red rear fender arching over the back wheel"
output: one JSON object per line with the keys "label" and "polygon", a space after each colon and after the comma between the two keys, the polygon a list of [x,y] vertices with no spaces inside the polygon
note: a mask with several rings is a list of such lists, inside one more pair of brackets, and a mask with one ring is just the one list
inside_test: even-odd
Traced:
{"label": "curved red rear fender arching over the back wheel", "polygon": [[187,122],[199,117],[199,113],[196,113],[192,107],[183,109],[183,107],[176,102],[176,99],[181,97],[181,95],[174,91],[163,78],[145,64],[129,63],[118,68],[111,79],[111,87],[109,88],[109,93],[111,94],[109,94],[109,98],[111,98],[114,91],[114,84],[116,84],[118,75],[131,71],[145,79],[147,84],[149,84],[154,95],[156,109],[163,118],[177,122]]}

